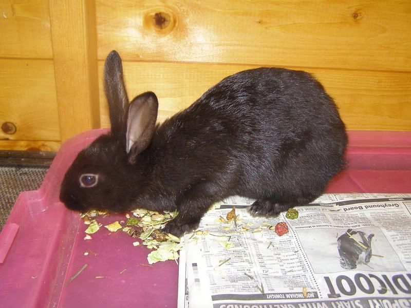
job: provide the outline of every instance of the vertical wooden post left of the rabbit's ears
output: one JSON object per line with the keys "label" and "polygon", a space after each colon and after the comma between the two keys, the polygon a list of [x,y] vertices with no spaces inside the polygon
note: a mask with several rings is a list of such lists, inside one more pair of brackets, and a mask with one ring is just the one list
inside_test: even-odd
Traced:
{"label": "vertical wooden post left of the rabbit's ears", "polygon": [[62,141],[100,125],[94,5],[49,0]]}

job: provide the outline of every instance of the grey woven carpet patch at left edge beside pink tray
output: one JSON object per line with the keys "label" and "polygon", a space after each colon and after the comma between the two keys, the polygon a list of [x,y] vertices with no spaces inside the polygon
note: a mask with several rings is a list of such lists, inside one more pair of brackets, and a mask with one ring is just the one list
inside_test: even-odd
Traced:
{"label": "grey woven carpet patch at left edge beside pink tray", "polygon": [[0,230],[20,192],[38,189],[47,170],[48,168],[0,167]]}

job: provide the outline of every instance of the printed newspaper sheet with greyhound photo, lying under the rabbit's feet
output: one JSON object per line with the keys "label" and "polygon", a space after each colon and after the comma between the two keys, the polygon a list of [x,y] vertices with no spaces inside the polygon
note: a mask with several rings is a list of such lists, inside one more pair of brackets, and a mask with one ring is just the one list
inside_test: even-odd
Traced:
{"label": "printed newspaper sheet with greyhound photo, lying under the rabbit's feet", "polygon": [[411,194],[326,194],[294,220],[252,202],[228,198],[184,236],[179,308],[411,307]]}

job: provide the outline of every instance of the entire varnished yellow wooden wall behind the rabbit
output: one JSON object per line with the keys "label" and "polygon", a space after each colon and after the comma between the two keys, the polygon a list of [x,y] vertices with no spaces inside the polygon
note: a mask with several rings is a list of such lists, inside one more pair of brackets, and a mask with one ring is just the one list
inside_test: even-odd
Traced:
{"label": "entire varnished yellow wooden wall behind the rabbit", "polygon": [[411,130],[411,2],[0,0],[0,148],[58,149],[107,127],[104,59],[159,121],[225,76],[259,66],[315,74],[348,129]]}

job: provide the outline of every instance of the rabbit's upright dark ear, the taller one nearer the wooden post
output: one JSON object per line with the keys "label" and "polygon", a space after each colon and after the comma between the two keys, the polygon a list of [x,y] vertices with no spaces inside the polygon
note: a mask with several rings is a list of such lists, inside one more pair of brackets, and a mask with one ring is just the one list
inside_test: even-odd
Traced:
{"label": "rabbit's upright dark ear, the taller one nearer the wooden post", "polygon": [[111,51],[104,65],[104,91],[110,113],[111,134],[124,138],[128,97],[123,80],[123,66],[117,51]]}

